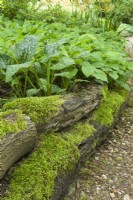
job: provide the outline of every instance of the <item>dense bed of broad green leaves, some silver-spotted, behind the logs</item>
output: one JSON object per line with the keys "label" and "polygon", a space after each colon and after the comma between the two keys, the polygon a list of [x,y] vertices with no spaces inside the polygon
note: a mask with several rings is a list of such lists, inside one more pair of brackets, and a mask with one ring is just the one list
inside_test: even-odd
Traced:
{"label": "dense bed of broad green leaves, some silver-spotted, behind the logs", "polygon": [[59,94],[92,80],[129,89],[132,64],[126,62],[123,43],[114,32],[96,34],[88,25],[73,30],[61,23],[30,21],[1,23],[1,29],[0,78],[16,97]]}

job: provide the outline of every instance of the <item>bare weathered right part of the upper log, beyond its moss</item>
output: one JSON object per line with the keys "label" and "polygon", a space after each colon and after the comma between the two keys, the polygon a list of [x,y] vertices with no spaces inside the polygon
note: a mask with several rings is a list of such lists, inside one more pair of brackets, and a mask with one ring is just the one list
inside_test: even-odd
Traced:
{"label": "bare weathered right part of the upper log, beyond its moss", "polygon": [[86,89],[81,89],[78,93],[62,96],[64,103],[57,115],[47,124],[36,124],[37,132],[57,131],[89,115],[98,106],[102,97],[102,89],[99,85],[89,85]]}

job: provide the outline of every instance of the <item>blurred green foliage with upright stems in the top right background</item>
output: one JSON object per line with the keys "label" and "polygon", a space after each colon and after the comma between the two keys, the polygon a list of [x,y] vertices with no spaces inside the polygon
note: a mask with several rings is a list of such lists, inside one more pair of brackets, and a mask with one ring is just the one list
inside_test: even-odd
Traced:
{"label": "blurred green foliage with upright stems in the top right background", "polygon": [[103,31],[116,31],[122,22],[130,21],[133,13],[132,0],[94,0],[84,1],[86,8],[84,13],[78,14],[92,26]]}

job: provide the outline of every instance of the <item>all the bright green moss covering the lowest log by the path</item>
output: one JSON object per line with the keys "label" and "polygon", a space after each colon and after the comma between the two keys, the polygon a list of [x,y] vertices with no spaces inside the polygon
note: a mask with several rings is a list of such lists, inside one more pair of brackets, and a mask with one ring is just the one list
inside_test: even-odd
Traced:
{"label": "all the bright green moss covering the lowest log by the path", "polygon": [[[125,99],[125,91],[109,92],[105,88],[103,100],[91,119],[110,125]],[[9,193],[5,200],[49,200],[55,179],[67,175],[78,162],[78,144],[95,133],[89,120],[75,124],[68,132],[42,135],[39,147],[11,173]],[[97,139],[92,148],[96,143]]]}

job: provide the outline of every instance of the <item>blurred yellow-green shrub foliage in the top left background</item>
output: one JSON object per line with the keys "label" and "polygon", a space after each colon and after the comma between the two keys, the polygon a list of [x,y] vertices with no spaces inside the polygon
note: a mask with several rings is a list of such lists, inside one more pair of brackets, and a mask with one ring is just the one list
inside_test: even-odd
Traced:
{"label": "blurred yellow-green shrub foliage in the top left background", "polygon": [[69,13],[62,9],[60,4],[52,5],[48,1],[38,0],[2,0],[1,13],[9,19],[19,20],[45,20],[49,23],[65,22]]}

